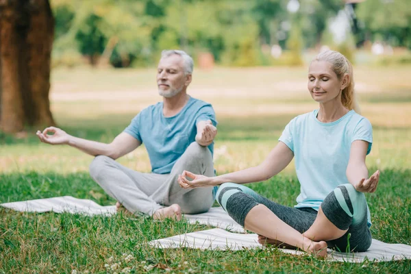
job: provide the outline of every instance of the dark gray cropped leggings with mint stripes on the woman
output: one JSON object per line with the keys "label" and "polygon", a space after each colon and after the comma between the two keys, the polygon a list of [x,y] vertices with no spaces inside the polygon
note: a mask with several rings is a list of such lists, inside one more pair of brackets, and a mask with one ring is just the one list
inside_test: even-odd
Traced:
{"label": "dark gray cropped leggings with mint stripes on the woman", "polygon": [[[271,210],[284,223],[301,234],[314,223],[317,212],[312,208],[290,208],[270,201],[239,184],[225,183],[219,188],[216,200],[237,223],[244,226],[245,216],[259,203]],[[364,193],[356,191],[351,184],[334,189],[325,197],[321,208],[339,229],[348,229],[341,238],[327,241],[330,248],[338,251],[366,251],[371,246],[371,232],[366,220]],[[264,221],[264,220],[262,220]]]}

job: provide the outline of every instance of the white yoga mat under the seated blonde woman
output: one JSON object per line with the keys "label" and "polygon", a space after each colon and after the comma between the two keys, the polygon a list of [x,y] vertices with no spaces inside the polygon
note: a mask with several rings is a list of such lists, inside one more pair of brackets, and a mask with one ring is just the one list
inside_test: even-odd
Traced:
{"label": "white yoga mat under the seated blonde woman", "polygon": [[[257,234],[238,234],[227,232],[221,228],[192,232],[160,240],[152,240],[149,245],[157,248],[193,248],[193,249],[218,249],[218,250],[241,250],[250,248],[264,248],[257,241]],[[292,249],[278,249],[285,253],[295,255],[303,254],[302,251]],[[340,253],[327,249],[327,260],[340,262],[364,262],[375,260],[384,262],[390,260],[411,259],[411,247],[401,244],[387,244],[373,239],[371,247],[366,252]]]}

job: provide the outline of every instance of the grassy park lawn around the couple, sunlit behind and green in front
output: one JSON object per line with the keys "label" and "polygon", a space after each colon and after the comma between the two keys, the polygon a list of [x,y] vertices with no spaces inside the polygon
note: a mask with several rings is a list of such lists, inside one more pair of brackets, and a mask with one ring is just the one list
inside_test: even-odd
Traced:
{"label": "grassy park lawn around the couple, sunlit behind and green in front", "polygon": [[[377,192],[367,194],[373,238],[411,245],[411,82],[410,66],[355,68],[362,114],[373,124],[373,150],[366,163],[380,169]],[[110,142],[151,103],[155,69],[57,69],[52,75],[51,108],[69,134]],[[217,173],[260,163],[290,119],[317,107],[306,91],[304,68],[195,71],[190,95],[216,110],[219,134]],[[101,205],[115,201],[88,175],[92,157],[71,147],[38,142],[35,129],[25,139],[0,134],[0,202],[71,195]],[[138,171],[151,167],[145,149],[121,164]],[[288,206],[299,184],[294,166],[266,182],[251,184],[260,194]],[[186,221],[149,218],[27,214],[0,208],[0,273],[166,272],[332,272],[409,273],[411,261],[326,262],[290,256],[274,248],[246,251],[161,250],[149,240],[205,229]],[[119,264],[121,262],[121,264]],[[109,268],[106,267],[109,266]]]}

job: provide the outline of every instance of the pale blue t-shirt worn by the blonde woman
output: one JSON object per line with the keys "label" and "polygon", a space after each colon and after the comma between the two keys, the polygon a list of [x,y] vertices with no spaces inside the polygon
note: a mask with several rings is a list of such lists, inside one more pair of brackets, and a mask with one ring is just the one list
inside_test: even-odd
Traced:
{"label": "pale blue t-shirt worn by the blonde woman", "polygon": [[[279,141],[294,153],[295,171],[300,182],[296,208],[319,210],[325,197],[341,184],[348,184],[347,171],[351,143],[369,142],[367,155],[373,143],[371,123],[350,110],[332,123],[321,123],[319,110],[292,119]],[[367,206],[368,223],[371,218]]]}

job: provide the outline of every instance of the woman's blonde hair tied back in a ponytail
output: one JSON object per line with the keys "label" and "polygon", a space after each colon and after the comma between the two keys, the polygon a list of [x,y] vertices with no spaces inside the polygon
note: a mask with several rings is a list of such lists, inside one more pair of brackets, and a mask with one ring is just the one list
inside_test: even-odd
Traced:
{"label": "woman's blonde hair tied back in a ponytail", "polygon": [[345,73],[349,75],[349,83],[341,92],[341,103],[349,110],[355,110],[360,113],[360,107],[356,101],[354,94],[354,77],[353,66],[351,62],[338,51],[322,51],[311,61],[326,61],[332,64],[332,69],[336,73],[338,79],[341,79]]}

